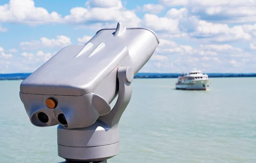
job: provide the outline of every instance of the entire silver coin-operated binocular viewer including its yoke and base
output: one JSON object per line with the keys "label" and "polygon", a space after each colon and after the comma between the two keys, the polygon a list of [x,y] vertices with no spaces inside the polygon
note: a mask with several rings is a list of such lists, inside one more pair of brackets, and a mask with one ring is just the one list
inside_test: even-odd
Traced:
{"label": "entire silver coin-operated binocular viewer including its yoke and base", "polygon": [[59,124],[60,157],[104,161],[119,153],[118,122],[131,99],[134,75],[158,44],[153,31],[118,23],[85,45],[61,49],[20,84],[31,123]]}

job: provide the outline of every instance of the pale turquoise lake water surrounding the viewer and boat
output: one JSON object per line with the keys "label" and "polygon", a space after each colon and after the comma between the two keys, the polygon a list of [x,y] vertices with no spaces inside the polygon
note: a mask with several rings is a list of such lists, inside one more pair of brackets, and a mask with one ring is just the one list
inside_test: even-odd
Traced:
{"label": "pale turquoise lake water surrounding the viewer and boat", "polygon": [[[57,163],[56,126],[35,127],[21,81],[0,81],[1,163]],[[209,91],[175,90],[176,79],[135,79],[109,163],[256,163],[256,78],[211,79]]]}

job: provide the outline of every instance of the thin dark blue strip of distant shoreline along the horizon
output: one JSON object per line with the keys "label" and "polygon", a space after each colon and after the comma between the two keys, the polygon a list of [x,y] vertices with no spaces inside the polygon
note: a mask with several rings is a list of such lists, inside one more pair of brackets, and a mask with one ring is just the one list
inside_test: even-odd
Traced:
{"label": "thin dark blue strip of distant shoreline along the horizon", "polygon": [[[0,74],[0,80],[24,80],[31,73]],[[256,73],[206,73],[209,78],[256,77]],[[177,78],[181,73],[137,73],[134,79]]]}

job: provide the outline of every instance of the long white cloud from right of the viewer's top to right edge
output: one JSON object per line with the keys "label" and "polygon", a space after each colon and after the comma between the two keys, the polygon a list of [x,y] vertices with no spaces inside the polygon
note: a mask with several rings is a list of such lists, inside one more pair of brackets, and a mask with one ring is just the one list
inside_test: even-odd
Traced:
{"label": "long white cloud from right of the viewer's top to right edge", "polygon": [[[155,31],[172,32],[172,35],[161,34],[163,37],[169,35],[169,37],[177,38],[190,35],[203,42],[248,41],[256,37],[256,24],[229,27],[227,24],[207,22],[199,18],[199,16],[192,15],[187,8],[171,8],[165,17],[145,14],[143,24]],[[186,33],[187,31],[189,33]]]}

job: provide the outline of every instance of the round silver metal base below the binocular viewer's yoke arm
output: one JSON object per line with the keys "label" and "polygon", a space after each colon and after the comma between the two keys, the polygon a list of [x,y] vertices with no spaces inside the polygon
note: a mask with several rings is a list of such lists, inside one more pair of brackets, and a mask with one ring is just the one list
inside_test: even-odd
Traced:
{"label": "round silver metal base below the binocular viewer's yoke arm", "polygon": [[81,129],[57,128],[58,155],[73,162],[102,161],[119,153],[119,128],[101,121]]}

